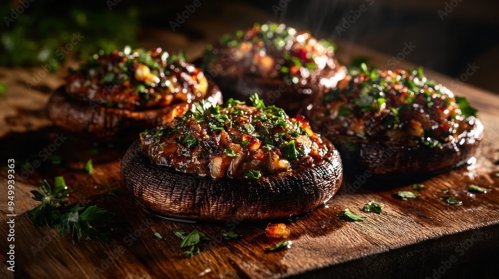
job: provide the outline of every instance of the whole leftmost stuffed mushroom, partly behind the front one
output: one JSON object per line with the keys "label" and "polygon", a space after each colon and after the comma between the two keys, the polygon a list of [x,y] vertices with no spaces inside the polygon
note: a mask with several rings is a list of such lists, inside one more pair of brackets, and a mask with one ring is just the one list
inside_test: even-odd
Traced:
{"label": "whole leftmost stuffed mushroom, partly behind the front one", "polygon": [[47,111],[61,129],[94,142],[126,145],[161,124],[178,107],[207,99],[222,103],[219,88],[180,55],[161,48],[126,47],[94,54],[69,71]]}

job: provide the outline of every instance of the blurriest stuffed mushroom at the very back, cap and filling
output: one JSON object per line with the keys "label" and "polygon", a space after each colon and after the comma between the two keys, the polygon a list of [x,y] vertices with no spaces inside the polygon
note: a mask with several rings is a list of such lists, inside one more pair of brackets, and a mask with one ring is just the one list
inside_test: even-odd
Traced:
{"label": "blurriest stuffed mushroom at the very back, cap and filling", "polygon": [[226,97],[248,101],[256,92],[267,104],[296,112],[345,77],[335,47],[284,24],[255,24],[209,45],[203,67]]}

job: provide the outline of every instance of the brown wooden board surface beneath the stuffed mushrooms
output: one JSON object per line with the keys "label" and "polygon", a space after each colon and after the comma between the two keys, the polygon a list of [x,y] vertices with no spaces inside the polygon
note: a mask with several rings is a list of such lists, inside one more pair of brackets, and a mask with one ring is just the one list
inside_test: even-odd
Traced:
{"label": "brown wooden board surface beneath the stuffed mushrooms", "polygon": [[[168,50],[187,49],[191,57],[199,55],[206,43],[233,28],[244,28],[252,21],[272,18],[250,7],[227,7],[234,19],[238,14],[251,13],[249,20],[234,20],[238,26],[228,26],[222,19],[203,26],[202,19],[192,18],[192,28],[201,30],[202,40],[168,31],[149,30],[144,33],[147,47],[162,46]],[[222,11],[224,12],[224,11]],[[246,18],[246,17],[245,17]],[[154,36],[150,36],[154,34]],[[154,41],[146,38],[154,37]],[[373,64],[386,67],[388,56],[344,41],[339,45],[342,61],[367,56]],[[412,66],[402,61],[401,67]],[[50,92],[62,84],[63,74],[46,76],[35,88],[25,84],[39,68],[0,68],[0,82],[9,90],[0,101],[0,165],[8,158],[16,161],[15,182],[15,275],[16,278],[345,278],[345,277],[404,277],[404,278],[497,278],[494,270],[499,259],[499,96],[463,84],[452,88],[466,96],[479,109],[478,117],[486,127],[486,137],[476,155],[476,163],[453,169],[433,177],[412,177],[402,180],[365,179],[359,189],[349,188],[364,178],[345,177],[344,185],[325,207],[292,221],[285,221],[291,230],[292,248],[265,253],[276,241],[264,235],[266,223],[189,224],[152,216],[134,202],[123,188],[120,159],[124,150],[95,147],[88,142],[62,133],[68,139],[56,147],[62,164],[48,160],[19,179],[26,170],[25,161],[40,159],[38,153],[49,147],[61,132],[51,126],[44,107]],[[451,79],[425,70],[427,76],[444,85]],[[88,159],[94,162],[94,172],[81,171]],[[37,205],[30,190],[41,179],[63,175],[67,185],[80,197],[82,205],[97,204],[114,212],[116,229],[108,243],[84,240],[74,243],[70,237],[59,238],[55,230],[33,228],[27,210]],[[6,185],[6,171],[0,172],[0,183]],[[26,177],[27,176],[27,177]],[[426,187],[421,196],[402,201],[392,195],[410,190],[412,183]],[[487,194],[472,194],[469,184],[489,189]],[[447,205],[438,196],[446,188],[463,205]],[[2,186],[0,195],[0,243],[6,251],[7,193]],[[349,190],[350,189],[350,190]],[[348,222],[336,215],[345,208],[360,212],[367,202],[385,204],[383,214],[363,214],[364,222]],[[10,218],[10,217],[9,217]],[[236,220],[238,221],[238,220]],[[179,249],[180,240],[172,231],[194,229],[215,240],[221,233],[235,228],[244,238],[215,241],[213,247],[187,259]],[[154,233],[163,236],[155,239]],[[0,254],[1,278],[13,278],[6,271],[6,252]],[[107,261],[107,263],[106,263]],[[442,275],[443,274],[443,275]]]}

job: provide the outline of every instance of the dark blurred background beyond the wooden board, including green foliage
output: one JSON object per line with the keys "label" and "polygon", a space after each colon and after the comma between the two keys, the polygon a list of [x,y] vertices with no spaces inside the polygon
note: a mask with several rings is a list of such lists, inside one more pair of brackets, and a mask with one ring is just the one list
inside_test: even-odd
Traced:
{"label": "dark blurred background beyond the wooden board, including green foliage", "polygon": [[[12,0],[3,4],[2,16],[8,16],[10,8],[16,7],[20,2]],[[76,58],[80,59],[98,48],[116,48],[126,44],[148,46],[144,41],[151,39],[148,37],[151,36],[150,30],[172,32],[169,22],[176,19],[177,12],[185,10],[184,5],[192,2],[193,0],[35,0],[29,3],[10,26],[1,23],[0,64],[39,66],[44,61],[37,52],[47,47],[57,49],[70,39],[72,30],[84,30],[87,37],[92,38],[75,47]],[[239,26],[250,27],[256,21],[251,15],[238,17],[227,8],[241,6],[244,12],[245,7],[250,6],[268,14],[268,20],[295,24],[298,28],[307,28],[317,37],[352,41],[391,56],[400,53],[404,44],[411,43],[416,47],[405,56],[405,60],[454,78],[460,78],[469,65],[474,65],[478,69],[465,77],[466,82],[499,92],[495,78],[499,74],[497,0],[201,2],[202,5],[191,16],[195,20],[206,22],[205,28],[211,28],[211,22],[220,18],[224,18],[227,25],[234,25],[234,29]],[[369,5],[371,2],[372,5]],[[447,11],[450,12],[442,19],[439,10],[446,11],[446,3]],[[351,10],[359,9],[361,4],[365,4],[367,10],[346,31],[338,35],[336,26],[341,25],[342,20],[352,14]],[[285,7],[281,9],[281,6]],[[204,35],[190,24],[192,21],[187,20],[175,32],[189,34],[195,43],[202,40]],[[214,24],[213,28],[217,28],[217,25]],[[14,47],[12,41],[15,42]],[[28,58],[21,59],[24,56]],[[42,55],[41,58],[45,57]]]}

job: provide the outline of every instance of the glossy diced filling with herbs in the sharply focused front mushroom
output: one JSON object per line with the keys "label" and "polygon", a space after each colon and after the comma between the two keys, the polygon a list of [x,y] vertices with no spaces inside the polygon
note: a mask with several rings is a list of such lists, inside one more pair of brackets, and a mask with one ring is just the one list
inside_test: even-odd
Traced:
{"label": "glossy diced filling with herbs in the sharply focused front mushroom", "polygon": [[142,146],[152,163],[213,178],[251,178],[313,166],[328,152],[308,121],[265,106],[228,100],[195,103],[182,118],[143,132]]}

